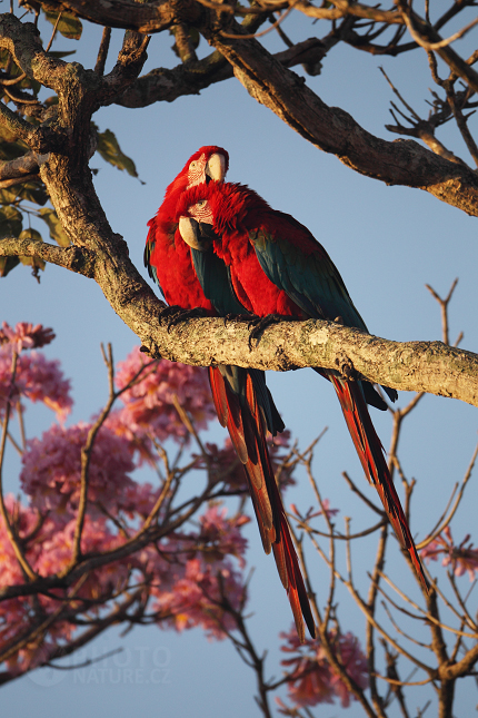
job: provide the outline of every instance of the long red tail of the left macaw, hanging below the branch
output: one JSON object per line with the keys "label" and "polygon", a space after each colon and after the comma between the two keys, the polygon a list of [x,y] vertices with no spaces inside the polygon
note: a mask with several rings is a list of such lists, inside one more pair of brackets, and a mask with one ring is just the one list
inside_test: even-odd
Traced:
{"label": "long red tail of the left macaw, hanging below the branch", "polygon": [[258,400],[258,396],[266,394],[256,391],[252,376],[256,381],[263,381],[257,378],[258,373],[252,374],[237,366],[209,368],[209,381],[219,421],[222,426],[227,426],[237,455],[246,470],[263,549],[266,553],[270,553],[271,549],[273,551],[279,577],[292,609],[297,633],[303,642],[303,621],[312,638],[316,636],[316,627],[267,449],[268,407],[261,406]]}

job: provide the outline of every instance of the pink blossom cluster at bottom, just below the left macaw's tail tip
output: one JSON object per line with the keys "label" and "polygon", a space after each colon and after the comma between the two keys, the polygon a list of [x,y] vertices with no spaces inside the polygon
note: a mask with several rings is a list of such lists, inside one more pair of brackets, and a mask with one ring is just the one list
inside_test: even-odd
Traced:
{"label": "pink blossom cluster at bottom, just below the left macaw's tail tip", "polygon": [[[291,658],[281,661],[282,666],[287,666],[290,671],[288,691],[293,704],[299,707],[316,706],[321,702],[332,704],[336,698],[339,698],[342,707],[347,708],[350,705],[350,698],[355,699],[355,696],[350,694],[340,675],[329,663],[320,639],[308,639],[306,643],[300,643],[295,628],[289,633],[280,636],[286,639],[281,650],[293,653]],[[358,639],[350,632],[339,635],[337,631],[330,631],[328,638],[332,643],[333,653],[348,676],[360,688],[367,688],[367,659]]]}

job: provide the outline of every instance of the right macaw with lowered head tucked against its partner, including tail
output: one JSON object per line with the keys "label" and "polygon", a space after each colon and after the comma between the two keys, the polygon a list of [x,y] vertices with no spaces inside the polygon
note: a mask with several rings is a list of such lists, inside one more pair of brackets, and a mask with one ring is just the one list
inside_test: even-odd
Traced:
{"label": "right macaw with lowered head tucked against its partner, including tail", "polygon": [[[205,256],[212,250],[228,267],[231,291],[251,313],[320,318],[368,332],[325,248],[297,219],[271,209],[247,186],[210,183],[195,187],[177,207],[181,236]],[[211,232],[212,230],[212,232]],[[265,319],[267,322],[267,319]],[[367,404],[386,410],[372,384],[315,367],[336,390],[368,481],[374,484],[397,538],[429,588],[395,490]],[[391,401],[397,392],[382,387]]]}

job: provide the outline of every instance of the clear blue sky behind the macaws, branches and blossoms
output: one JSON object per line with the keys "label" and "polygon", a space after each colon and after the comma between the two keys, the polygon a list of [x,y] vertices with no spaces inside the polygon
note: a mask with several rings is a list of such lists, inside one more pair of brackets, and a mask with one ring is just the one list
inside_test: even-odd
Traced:
{"label": "clear blue sky behind the macaws, branches and blossoms", "polygon": [[[312,37],[317,28],[292,17],[285,30],[292,40]],[[325,31],[319,29],[319,35]],[[43,32],[43,39],[48,38]],[[93,67],[101,29],[88,27],[88,40],[77,43],[74,59]],[[109,68],[114,61],[121,33],[113,32],[114,46]],[[465,40],[458,47],[461,50]],[[59,40],[54,49],[70,49],[72,42]],[[176,58],[167,33],[152,38],[145,71],[153,67],[172,67]],[[275,33],[266,40],[278,51],[283,45]],[[201,56],[210,49],[202,41]],[[466,51],[464,50],[465,55]],[[307,77],[308,85],[331,106],[349,111],[370,132],[395,139],[385,129],[391,90],[378,70],[382,65],[406,99],[422,112],[429,98],[431,78],[427,58],[418,50],[399,59],[376,58],[348,47],[333,49],[323,61],[320,76]],[[108,68],[107,68],[108,69]],[[296,71],[302,73],[301,68]],[[102,109],[94,118],[100,130],[113,130],[126,154],[131,156],[145,185],[106,165],[99,156],[91,167],[99,168],[94,179],[97,191],[114,232],[127,240],[136,266],[142,267],[147,234],[146,223],[161,204],[166,186],[188,157],[202,145],[219,145],[230,154],[228,179],[241,181],[259,191],[269,204],[292,214],[309,227],[323,244],[339,267],[349,293],[370,332],[397,341],[440,340],[439,307],[425,288],[430,284],[446,295],[455,277],[459,277],[450,306],[450,334],[455,341],[460,331],[461,346],[478,351],[477,327],[477,222],[418,189],[386,187],[361,177],[333,157],[308,144],[270,110],[258,105],[235,79],[213,86],[198,97],[180,98],[173,104],[157,104],[142,110],[119,107]],[[470,121],[471,130],[476,121]],[[466,147],[451,127],[440,139],[457,155],[469,161]],[[46,236],[46,234],[43,235]],[[122,358],[138,343],[131,331],[117,317],[98,286],[64,269],[48,266],[41,284],[28,268],[18,268],[0,282],[0,319],[10,324],[24,321],[52,326],[54,343],[47,347],[51,357],[60,357],[63,371],[73,382],[76,406],[69,422],[86,420],[107,399],[107,380],[99,345],[113,344],[116,358]],[[369,514],[347,490],[341,472],[348,471],[368,495],[371,489],[362,479],[339,404],[331,387],[311,370],[289,374],[269,373],[268,384],[282,412],[286,425],[305,447],[327,425],[327,434],[316,452],[315,471],[322,494],[340,509],[337,524],[343,517],[353,517],[352,530],[371,522]],[[402,393],[399,404],[411,395]],[[384,445],[389,444],[391,421],[371,410]],[[29,435],[48,427],[51,416],[44,410],[31,410]],[[435,396],[426,397],[407,421],[400,443],[404,470],[417,479],[411,509],[412,533],[424,538],[445,509],[455,482],[469,463],[477,441],[476,409]],[[220,429],[212,430],[217,439]],[[18,463],[9,460],[8,488],[16,490]],[[286,503],[302,509],[313,503],[306,476],[288,491]],[[400,486],[401,490],[401,486]],[[454,527],[459,543],[476,525],[477,482],[467,492]],[[251,583],[250,627],[258,650],[268,650],[267,673],[280,676],[278,633],[291,623],[286,596],[279,584],[273,561],[261,551],[255,525],[248,531],[249,565],[256,567]],[[392,542],[395,542],[392,540]],[[396,542],[395,542],[396,543]],[[355,553],[355,572],[359,586],[366,586],[366,571],[375,554],[375,540],[366,540]],[[309,570],[319,603],[327,598],[328,576],[320,559],[309,552]],[[432,565],[434,574],[445,573]],[[394,547],[387,571],[404,590],[418,599],[414,580]],[[468,588],[468,578],[459,579]],[[364,637],[365,621],[345,593],[339,593],[339,616],[343,631]],[[255,676],[245,667],[229,642],[209,643],[201,631],[185,635],[157,628],[136,629],[125,639],[111,630],[84,649],[69,663],[102,656],[117,647],[122,653],[91,668],[51,673],[37,671],[2,688],[2,715],[38,718],[69,715],[127,717],[143,716],[239,716],[259,715],[253,702]],[[109,669],[120,668],[122,672]],[[129,672],[130,671],[130,672]],[[119,682],[111,677],[120,676]],[[417,680],[417,679],[415,679]],[[282,694],[283,695],[283,694]],[[411,706],[425,701],[414,694]],[[459,715],[471,715],[477,704],[471,685],[460,691]],[[431,707],[429,715],[436,710]],[[396,711],[396,712],[394,712]],[[340,706],[319,707],[317,715],[346,715]],[[355,705],[349,716],[361,711]],[[398,706],[390,711],[398,715]]]}

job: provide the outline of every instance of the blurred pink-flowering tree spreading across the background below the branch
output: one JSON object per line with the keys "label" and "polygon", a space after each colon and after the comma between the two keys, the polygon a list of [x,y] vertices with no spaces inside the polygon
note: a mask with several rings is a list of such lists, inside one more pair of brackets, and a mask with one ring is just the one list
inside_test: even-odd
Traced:
{"label": "blurred pink-flowering tree spreading across the background below the branch", "polygon": [[[450,296],[441,301],[445,308]],[[282,630],[283,677],[268,679],[265,656],[255,647],[246,611],[250,591],[242,531],[250,521],[245,504],[247,482],[230,440],[222,446],[206,440],[215,417],[206,372],[151,361],[138,347],[114,366],[108,347],[103,352],[110,390],[107,405],[90,422],[67,426],[72,406],[70,382],[59,363],[39,351],[53,338],[51,330],[30,324],[10,327],[3,323],[0,330],[0,469],[7,450],[21,455],[22,466],[18,498],[4,494],[0,483],[1,682],[41,666],[54,667],[56,659],[74,653],[113,623],[156,622],[177,631],[200,628],[210,639],[229,640],[256,673],[258,705],[266,717],[272,716],[271,698],[282,687],[287,697],[277,696],[276,707],[285,716],[305,718],[317,706],[333,702],[343,708],[359,705],[369,716],[388,716],[394,701],[406,706],[410,681],[400,678],[406,662],[434,676],[441,715],[447,715],[452,681],[472,675],[476,661],[476,649],[468,649],[450,677],[449,667],[448,676],[440,673],[445,668],[437,655],[447,650],[450,638],[456,646],[465,637],[478,638],[470,593],[459,582],[465,573],[475,581],[478,551],[470,534],[455,543],[450,528],[477,452],[449,511],[418,547],[427,563],[439,561],[444,567],[456,604],[446,598],[440,579],[430,578],[432,591],[422,590],[419,606],[385,574],[386,517],[347,474],[345,481],[378,515],[378,522],[355,534],[349,520],[345,533],[337,529],[339,511],[322,499],[312,471],[320,436],[303,452],[290,446],[287,432],[270,445],[282,491],[295,483],[301,466],[316,495],[315,506],[301,511],[290,504],[289,515],[318,637],[300,643],[295,628]],[[394,413],[390,470],[398,470],[405,481],[408,506],[414,484],[404,475],[396,447],[401,423],[420,399],[417,395],[407,409]],[[44,403],[54,421],[40,437],[26,441],[26,414],[32,402]],[[139,468],[149,468],[150,482],[138,479]],[[202,476],[201,488],[185,498],[179,490],[192,472]],[[351,547],[372,534],[378,534],[378,544],[366,600],[353,579]],[[330,571],[327,597],[323,587],[313,588],[306,539]],[[339,558],[343,547],[345,571]],[[347,623],[342,626],[337,604],[340,586],[365,614],[365,645]],[[379,597],[385,608],[380,609]],[[445,610],[461,617],[458,627],[441,617]],[[419,621],[421,631],[424,623],[428,627],[428,662],[385,627],[380,611],[397,628],[394,611]],[[400,629],[400,635],[416,642],[418,631],[409,635]],[[376,655],[378,646],[381,659]],[[385,702],[378,681],[388,686]],[[416,682],[426,685],[427,680]]]}

